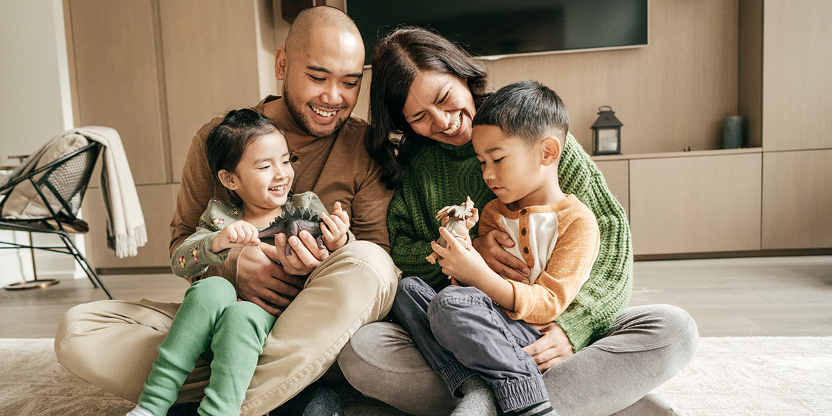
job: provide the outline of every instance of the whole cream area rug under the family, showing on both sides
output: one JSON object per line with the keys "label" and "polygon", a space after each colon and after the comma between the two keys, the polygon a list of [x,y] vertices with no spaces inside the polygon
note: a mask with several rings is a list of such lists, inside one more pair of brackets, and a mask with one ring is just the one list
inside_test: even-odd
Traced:
{"label": "whole cream area rug under the family, showing on both sides", "polygon": [[[832,415],[832,337],[703,338],[691,364],[656,392],[691,416]],[[389,414],[355,395],[345,398],[348,415]],[[52,339],[0,339],[0,415],[125,414],[131,407],[67,374]]]}

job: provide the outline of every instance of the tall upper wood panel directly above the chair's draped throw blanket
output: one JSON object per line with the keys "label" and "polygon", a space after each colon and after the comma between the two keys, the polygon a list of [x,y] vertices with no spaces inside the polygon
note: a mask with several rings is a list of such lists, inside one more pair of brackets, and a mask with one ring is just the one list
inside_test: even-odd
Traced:
{"label": "tall upper wood panel directly above the chair's draped throw blanket", "polygon": [[[136,184],[164,183],[151,1],[70,0],[68,12],[77,120],[82,126],[110,126],[119,132]],[[93,186],[97,177],[92,179]]]}

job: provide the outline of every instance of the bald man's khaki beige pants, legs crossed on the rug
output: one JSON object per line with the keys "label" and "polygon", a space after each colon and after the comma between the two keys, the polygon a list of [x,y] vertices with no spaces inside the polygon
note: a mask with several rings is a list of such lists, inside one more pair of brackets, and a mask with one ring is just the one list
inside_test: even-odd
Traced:
{"label": "bald man's khaki beige pants, legs crossed on the rug", "polygon": [[[378,245],[356,241],[314,270],[266,339],[240,414],[266,414],[319,379],[361,325],[390,310],[393,261]],[[101,300],[64,314],[55,336],[58,361],[72,374],[136,402],[179,304]],[[197,402],[209,363],[196,362],[177,403]]]}

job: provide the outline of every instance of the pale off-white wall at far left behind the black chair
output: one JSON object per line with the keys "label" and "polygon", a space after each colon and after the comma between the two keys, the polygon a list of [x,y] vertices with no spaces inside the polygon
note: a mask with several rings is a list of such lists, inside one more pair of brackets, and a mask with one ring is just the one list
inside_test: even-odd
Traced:
{"label": "pale off-white wall at far left behind the black chair", "polygon": [[[0,2],[0,166],[17,165],[10,155],[29,155],[72,128],[61,0]],[[0,239],[28,244],[23,232],[0,231]],[[53,235],[36,244],[60,244]],[[83,245],[83,239],[77,239]],[[37,251],[37,277],[72,278],[71,256]],[[0,286],[32,280],[29,250],[0,250]]]}

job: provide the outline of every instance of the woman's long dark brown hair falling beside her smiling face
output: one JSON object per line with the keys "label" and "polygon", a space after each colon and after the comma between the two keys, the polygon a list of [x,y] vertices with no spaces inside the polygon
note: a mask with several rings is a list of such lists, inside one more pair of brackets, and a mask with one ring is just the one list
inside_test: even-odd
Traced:
{"label": "woman's long dark brown hair falling beside her smiling face", "polygon": [[[373,55],[369,87],[369,131],[364,147],[381,166],[389,189],[401,181],[401,166],[433,140],[419,136],[404,119],[402,109],[419,72],[435,71],[468,82],[475,107],[490,95],[485,66],[462,47],[421,27],[399,27],[384,37]],[[391,134],[400,134],[394,141]],[[396,151],[398,150],[398,156]]]}

